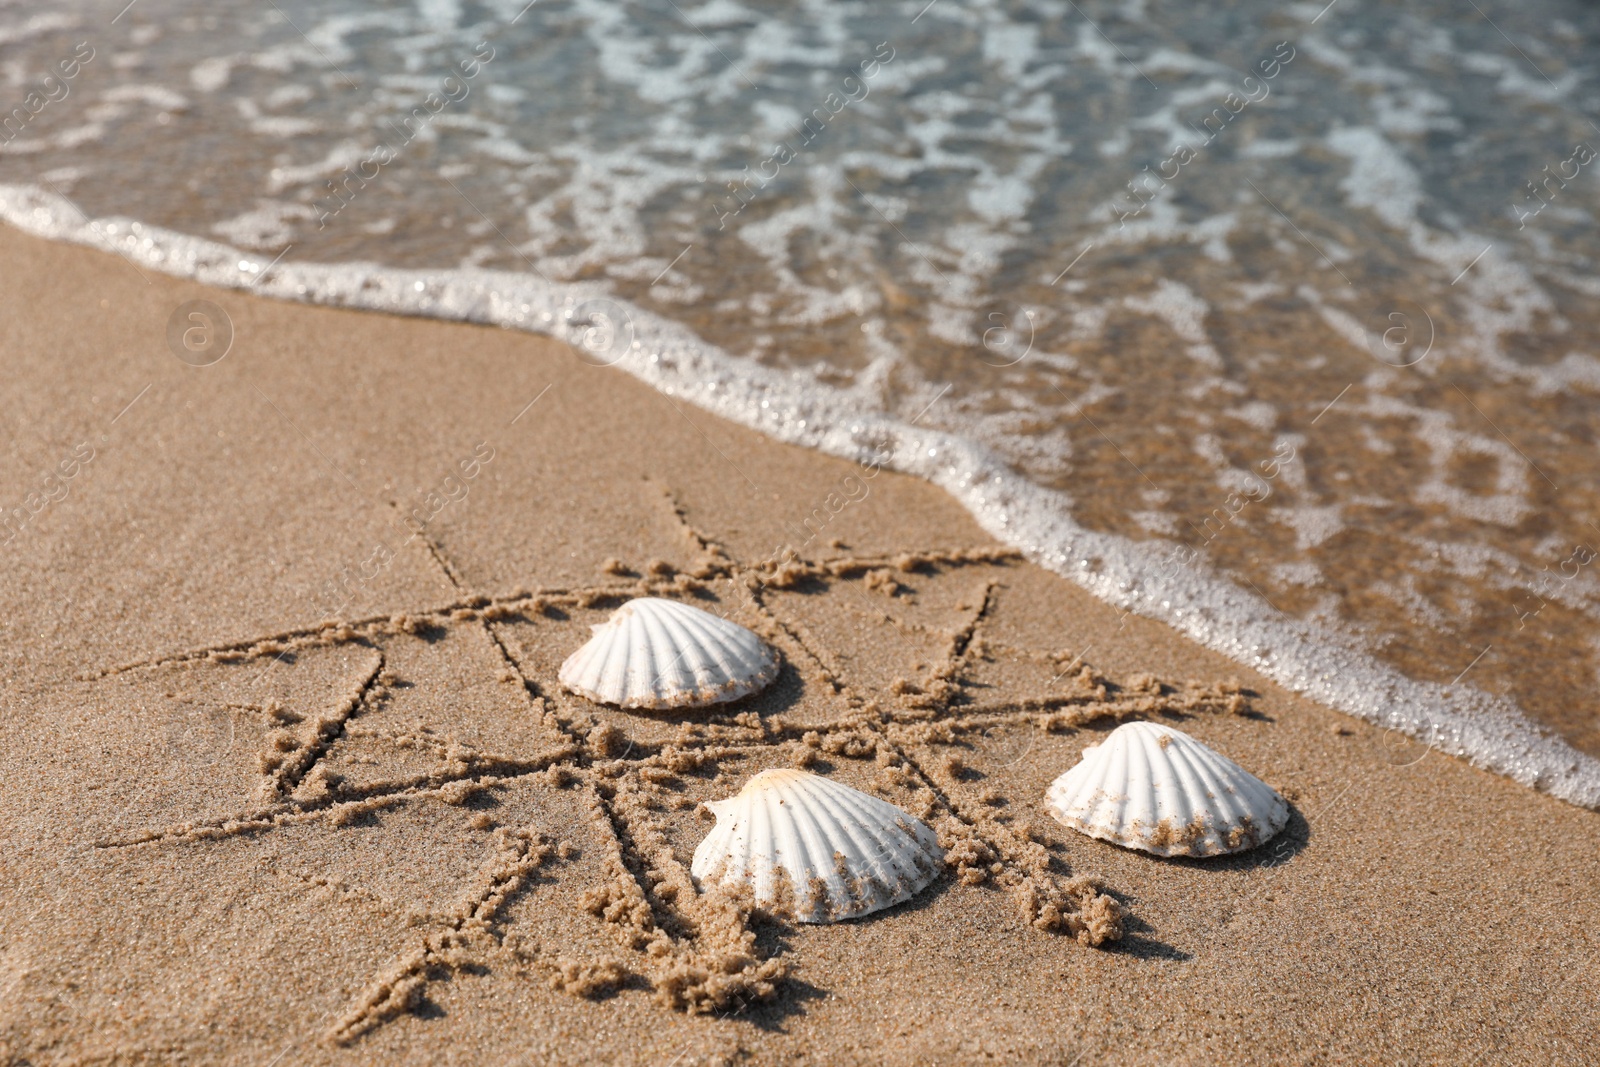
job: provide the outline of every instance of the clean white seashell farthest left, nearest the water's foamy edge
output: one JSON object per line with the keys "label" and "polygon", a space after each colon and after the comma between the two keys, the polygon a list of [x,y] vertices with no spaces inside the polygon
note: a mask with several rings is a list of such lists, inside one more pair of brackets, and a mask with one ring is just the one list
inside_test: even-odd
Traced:
{"label": "clean white seashell farthest left, nearest the water's foamy edge", "polygon": [[629,600],[562,664],[562,685],[600,704],[702,707],[778,677],[778,653],[738,622],[677,600]]}

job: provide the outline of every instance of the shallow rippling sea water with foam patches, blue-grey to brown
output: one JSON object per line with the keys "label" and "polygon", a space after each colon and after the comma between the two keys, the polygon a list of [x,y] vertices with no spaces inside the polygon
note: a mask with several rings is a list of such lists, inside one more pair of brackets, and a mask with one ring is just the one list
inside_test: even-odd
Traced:
{"label": "shallow rippling sea water with foam patches, blue-grey to brown", "polygon": [[[1374,661],[1600,755],[1587,5],[35,10],[0,5],[0,182],[280,294],[362,302],[310,267],[352,261],[605,291],[597,358],[675,325],[814,402],[752,402],[781,437],[998,458],[1078,533],[992,530],[1299,688]],[[536,304],[490,317],[560,326]],[[715,408],[712,378],[658,384]],[[974,485],[934,462],[896,466]]]}

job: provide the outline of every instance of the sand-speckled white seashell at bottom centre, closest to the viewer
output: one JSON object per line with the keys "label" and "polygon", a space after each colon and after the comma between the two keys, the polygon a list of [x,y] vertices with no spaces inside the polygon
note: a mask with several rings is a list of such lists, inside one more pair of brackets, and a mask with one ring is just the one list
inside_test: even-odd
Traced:
{"label": "sand-speckled white seashell at bottom centre, closest to the viewer", "polygon": [[694,849],[698,881],[749,885],[802,923],[837,923],[909,901],[944,867],[939,837],[859,789],[806,771],[762,771],[706,805],[717,827]]}

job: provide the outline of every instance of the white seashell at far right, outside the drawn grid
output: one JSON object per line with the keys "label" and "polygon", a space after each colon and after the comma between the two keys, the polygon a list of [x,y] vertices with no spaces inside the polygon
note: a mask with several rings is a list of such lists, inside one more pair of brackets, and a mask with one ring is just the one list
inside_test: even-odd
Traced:
{"label": "white seashell at far right, outside the drawn grid", "polygon": [[1125,723],[1045,792],[1058,822],[1157,856],[1221,856],[1290,819],[1270,785],[1181,729]]}

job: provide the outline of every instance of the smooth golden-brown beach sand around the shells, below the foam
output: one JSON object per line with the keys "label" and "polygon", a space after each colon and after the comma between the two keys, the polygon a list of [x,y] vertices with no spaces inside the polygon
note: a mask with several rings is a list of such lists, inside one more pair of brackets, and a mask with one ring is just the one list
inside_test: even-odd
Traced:
{"label": "smooth golden-brown beach sand around the shells, below the foam", "polygon": [[[1600,816],[555,342],[0,262],[6,1062],[1592,1062]],[[168,349],[192,299],[211,366]],[[642,592],[779,680],[563,693]],[[1054,824],[1130,717],[1288,829],[1200,862]],[[699,801],[794,765],[926,817],[947,875],[834,926],[696,896]]]}

